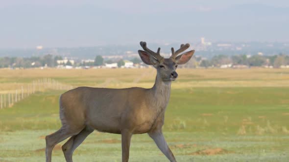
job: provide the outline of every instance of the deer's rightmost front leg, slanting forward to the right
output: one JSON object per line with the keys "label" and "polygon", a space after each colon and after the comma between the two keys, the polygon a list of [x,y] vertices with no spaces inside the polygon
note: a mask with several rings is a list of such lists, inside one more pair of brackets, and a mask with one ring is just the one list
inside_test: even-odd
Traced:
{"label": "deer's rightmost front leg, slanting forward to the right", "polygon": [[157,146],[163,152],[163,154],[166,155],[166,157],[169,159],[170,162],[176,162],[175,157],[173,156],[173,153],[169,149],[169,146],[164,138],[162,130],[149,132],[148,135],[153,139],[153,141],[157,144]]}

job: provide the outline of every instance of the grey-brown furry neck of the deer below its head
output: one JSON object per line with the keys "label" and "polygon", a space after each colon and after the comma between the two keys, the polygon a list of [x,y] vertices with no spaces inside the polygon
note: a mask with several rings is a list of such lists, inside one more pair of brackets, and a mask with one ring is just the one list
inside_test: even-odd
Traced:
{"label": "grey-brown furry neck of the deer below its head", "polygon": [[151,106],[158,111],[165,110],[169,103],[171,81],[163,81],[157,74],[155,84],[150,89],[152,93]]}

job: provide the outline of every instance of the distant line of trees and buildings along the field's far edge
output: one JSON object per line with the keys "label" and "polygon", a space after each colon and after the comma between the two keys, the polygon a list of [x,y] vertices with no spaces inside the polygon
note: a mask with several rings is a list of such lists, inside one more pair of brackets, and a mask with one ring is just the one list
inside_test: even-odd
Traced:
{"label": "distant line of trees and buildings along the field's far edge", "polygon": [[[63,60],[61,56],[44,55],[42,57],[3,57],[0,58],[0,68],[33,68],[33,67],[55,67],[59,65],[58,60]],[[133,58],[133,63],[141,63],[139,58]],[[124,65],[122,59],[115,60],[104,60],[102,56],[97,55],[93,62],[81,62],[76,61],[74,66],[101,66],[105,63],[118,63],[118,66]],[[289,65],[289,56],[285,54],[273,55],[273,56],[262,56],[262,55],[216,55],[211,59],[204,59],[202,57],[193,57],[189,63],[183,67],[194,68],[194,67],[220,67],[224,64],[232,65],[246,65],[251,66],[273,66],[279,68],[282,65]],[[72,65],[72,62],[67,61],[62,65]]]}

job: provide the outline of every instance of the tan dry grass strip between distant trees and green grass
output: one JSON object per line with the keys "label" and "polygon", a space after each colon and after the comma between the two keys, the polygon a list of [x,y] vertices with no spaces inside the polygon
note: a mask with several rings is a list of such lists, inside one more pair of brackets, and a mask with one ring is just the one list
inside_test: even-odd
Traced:
{"label": "tan dry grass strip between distant trees and green grass", "polygon": [[[283,87],[289,86],[288,69],[178,69],[172,88]],[[147,69],[0,69],[0,91],[26,86],[38,78],[52,78],[73,86],[151,87],[156,71]],[[228,92],[230,93],[230,92]]]}

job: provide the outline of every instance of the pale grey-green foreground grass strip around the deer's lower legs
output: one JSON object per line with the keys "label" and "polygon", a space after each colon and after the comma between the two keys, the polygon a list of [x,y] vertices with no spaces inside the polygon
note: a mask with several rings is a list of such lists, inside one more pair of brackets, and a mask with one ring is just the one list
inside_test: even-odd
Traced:
{"label": "pale grey-green foreground grass strip around the deer's lower legs", "polygon": [[[1,132],[0,161],[39,162],[44,161],[44,136],[53,130],[23,130]],[[19,138],[25,139],[19,141]],[[214,133],[166,132],[165,137],[176,159],[181,162],[281,162],[289,158],[289,137],[274,136],[218,136]],[[61,142],[63,144],[64,142]],[[212,156],[192,155],[204,149],[223,148],[226,153]],[[63,153],[56,146],[52,160],[65,162]],[[74,161],[120,162],[120,136],[106,133],[93,133],[74,153]],[[131,162],[167,162],[147,135],[135,135],[131,142]]]}

